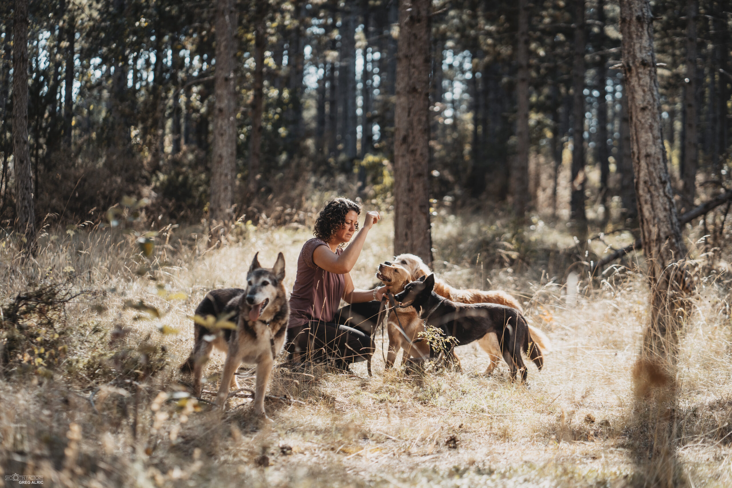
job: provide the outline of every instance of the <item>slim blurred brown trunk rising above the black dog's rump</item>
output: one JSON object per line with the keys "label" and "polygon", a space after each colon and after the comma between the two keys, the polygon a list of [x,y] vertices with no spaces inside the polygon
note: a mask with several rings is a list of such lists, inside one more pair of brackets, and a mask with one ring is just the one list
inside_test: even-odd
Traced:
{"label": "slim blurred brown trunk rising above the black dog's rump", "polygon": [[518,0],[516,61],[516,163],[511,171],[513,209],[523,219],[529,194],[529,4]]}

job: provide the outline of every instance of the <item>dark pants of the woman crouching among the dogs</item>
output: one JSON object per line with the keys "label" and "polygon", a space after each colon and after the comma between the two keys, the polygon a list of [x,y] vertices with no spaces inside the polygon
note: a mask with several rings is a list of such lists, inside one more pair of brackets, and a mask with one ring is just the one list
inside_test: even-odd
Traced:
{"label": "dark pants of the woman crouching among the dogs", "polygon": [[352,304],[335,313],[335,319],[340,323],[310,320],[304,326],[289,329],[285,345],[288,359],[332,361],[344,369],[348,364],[366,361],[375,350],[371,336],[376,328],[379,306],[378,301]]}

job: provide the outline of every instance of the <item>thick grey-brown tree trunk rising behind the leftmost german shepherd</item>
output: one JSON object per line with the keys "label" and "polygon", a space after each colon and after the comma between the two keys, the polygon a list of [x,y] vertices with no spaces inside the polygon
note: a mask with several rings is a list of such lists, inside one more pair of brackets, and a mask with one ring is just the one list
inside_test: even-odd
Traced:
{"label": "thick grey-brown tree trunk rising behind the leftmost german shepherd", "polygon": [[[214,148],[211,168],[212,227],[230,222],[234,215],[234,179],[236,173],[236,90],[234,53],[237,15],[234,0],[216,3],[216,69],[214,71]],[[224,226],[225,229],[225,226]],[[223,230],[223,229],[222,229]]]}

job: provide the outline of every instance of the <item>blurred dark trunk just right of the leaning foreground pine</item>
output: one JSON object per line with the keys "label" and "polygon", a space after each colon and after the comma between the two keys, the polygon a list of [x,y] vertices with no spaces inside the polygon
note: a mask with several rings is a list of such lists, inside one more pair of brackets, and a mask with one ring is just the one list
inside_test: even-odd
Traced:
{"label": "blurred dark trunk just right of the leaning foreground pine", "polygon": [[698,167],[698,113],[697,113],[697,67],[696,67],[696,15],[698,4],[689,0],[687,4],[687,56],[686,79],[684,79],[684,140],[681,148],[681,209],[694,206],[696,193],[696,170]]}

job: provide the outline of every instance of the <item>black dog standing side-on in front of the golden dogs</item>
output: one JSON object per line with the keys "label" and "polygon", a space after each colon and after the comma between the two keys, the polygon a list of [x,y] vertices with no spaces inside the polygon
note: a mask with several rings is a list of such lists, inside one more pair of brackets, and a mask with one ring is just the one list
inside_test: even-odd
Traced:
{"label": "black dog standing side-on in front of the golden dogs", "polygon": [[[496,334],[501,356],[511,370],[512,380],[520,372],[521,382],[526,382],[522,351],[539,370],[544,367],[542,351],[532,341],[529,324],[517,309],[498,304],[458,304],[439,296],[434,288],[435,276],[430,274],[408,283],[394,298],[400,307],[414,307],[418,318],[441,329],[445,336],[455,337],[455,345],[466,345],[486,334]],[[433,351],[430,351],[430,356],[433,356]]]}

